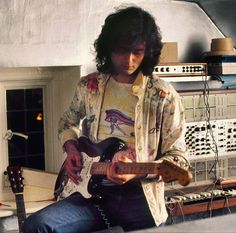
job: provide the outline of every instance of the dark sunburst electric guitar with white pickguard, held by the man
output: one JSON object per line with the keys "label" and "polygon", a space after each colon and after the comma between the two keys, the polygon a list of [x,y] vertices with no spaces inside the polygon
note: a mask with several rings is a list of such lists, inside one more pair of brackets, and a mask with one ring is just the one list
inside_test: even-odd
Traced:
{"label": "dark sunburst electric guitar with white pickguard, held by the man", "polygon": [[[93,143],[87,137],[78,139],[78,148],[83,155],[83,168],[80,172],[82,181],[75,184],[66,174],[65,164],[59,172],[55,196],[62,198],[74,192],[80,192],[83,197],[90,198],[99,189],[99,184],[106,176],[106,171],[114,154],[120,150],[126,150],[126,144],[115,137],[105,139],[99,143]],[[186,164],[178,164],[174,161],[163,159],[162,162],[116,162],[118,174],[156,174],[162,177],[166,183],[178,181],[186,186],[192,179],[192,174]]]}

